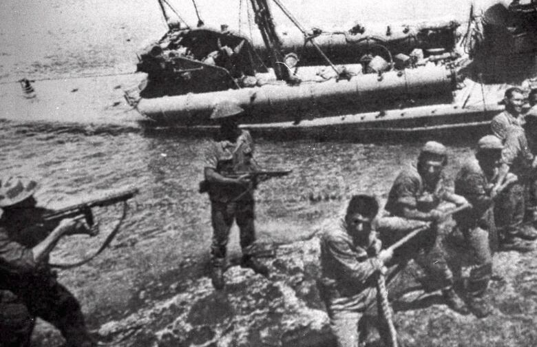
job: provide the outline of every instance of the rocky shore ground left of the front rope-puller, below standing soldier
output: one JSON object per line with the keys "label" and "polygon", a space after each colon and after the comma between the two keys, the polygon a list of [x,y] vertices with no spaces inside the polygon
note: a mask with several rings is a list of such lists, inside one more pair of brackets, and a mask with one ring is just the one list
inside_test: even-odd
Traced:
{"label": "rocky shore ground left of the front rope-puller, below standing soldier", "polygon": [[114,346],[333,346],[315,284],[318,256],[317,238],[279,246],[264,260],[268,279],[231,266],[223,291],[207,277],[191,281],[99,334]]}

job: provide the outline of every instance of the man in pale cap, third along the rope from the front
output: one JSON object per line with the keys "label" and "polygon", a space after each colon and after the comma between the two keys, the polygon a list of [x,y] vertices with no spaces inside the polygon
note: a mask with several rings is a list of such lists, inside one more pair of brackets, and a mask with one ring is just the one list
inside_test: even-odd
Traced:
{"label": "man in pale cap, third along the rope from the front", "polygon": [[[466,291],[467,304],[476,317],[485,317],[492,305],[485,292],[492,276],[492,247],[496,247],[493,202],[490,193],[501,159],[502,142],[494,135],[481,138],[474,158],[463,163],[455,178],[455,193],[470,202],[470,209],[454,215],[465,245],[473,255]],[[504,186],[505,187],[505,186]]]}

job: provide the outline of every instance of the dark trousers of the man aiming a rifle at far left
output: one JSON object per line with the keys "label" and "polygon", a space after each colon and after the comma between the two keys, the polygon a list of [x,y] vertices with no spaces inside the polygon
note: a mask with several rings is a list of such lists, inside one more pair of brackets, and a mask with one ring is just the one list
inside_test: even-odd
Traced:
{"label": "dark trousers of the man aiming a rifle at far left", "polygon": [[[0,303],[2,340],[14,341],[6,346],[30,346],[36,317],[49,322],[65,338],[66,347],[92,347],[94,341],[87,331],[78,300],[54,277],[36,276],[19,288],[14,299]],[[13,327],[18,322],[17,327]]]}

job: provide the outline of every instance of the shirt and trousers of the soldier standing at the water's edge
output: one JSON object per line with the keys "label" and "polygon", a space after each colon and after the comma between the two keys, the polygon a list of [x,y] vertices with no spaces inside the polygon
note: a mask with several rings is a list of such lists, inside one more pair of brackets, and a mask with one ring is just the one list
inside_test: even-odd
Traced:
{"label": "shirt and trousers of the soldier standing at the water's edge", "polygon": [[[215,169],[222,176],[255,171],[258,167],[253,160],[253,151],[254,143],[250,133],[242,130],[233,143],[227,140],[211,141],[205,153],[205,166]],[[213,265],[224,265],[233,220],[236,220],[240,229],[242,252],[249,256],[255,241],[253,187],[211,183],[209,198],[213,226]]]}

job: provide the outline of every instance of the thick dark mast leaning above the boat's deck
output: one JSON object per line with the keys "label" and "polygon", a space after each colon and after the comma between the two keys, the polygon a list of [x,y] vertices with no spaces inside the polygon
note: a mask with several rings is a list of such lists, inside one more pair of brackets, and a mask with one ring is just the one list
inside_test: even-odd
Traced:
{"label": "thick dark mast leaning above the boat's deck", "polygon": [[269,60],[276,78],[288,81],[289,71],[283,63],[282,41],[276,32],[271,10],[268,8],[266,0],[251,0],[251,3],[257,28],[261,32],[267,50],[271,52],[269,54]]}

